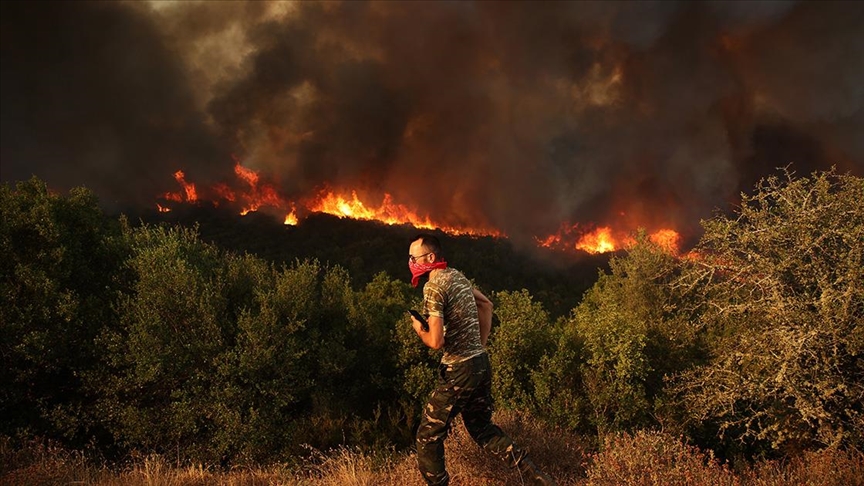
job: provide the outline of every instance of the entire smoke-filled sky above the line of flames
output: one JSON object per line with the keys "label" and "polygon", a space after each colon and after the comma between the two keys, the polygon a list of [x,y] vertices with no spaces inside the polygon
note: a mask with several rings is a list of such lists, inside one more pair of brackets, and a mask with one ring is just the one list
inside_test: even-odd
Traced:
{"label": "entire smoke-filled sky above the line of flames", "polygon": [[514,238],[685,234],[864,173],[860,2],[3,2],[3,181],[152,205],[241,160]]}

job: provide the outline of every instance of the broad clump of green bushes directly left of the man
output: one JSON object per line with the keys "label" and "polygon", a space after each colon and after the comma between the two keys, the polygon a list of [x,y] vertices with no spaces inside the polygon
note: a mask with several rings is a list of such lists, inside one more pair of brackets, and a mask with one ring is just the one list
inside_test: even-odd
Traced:
{"label": "broad clump of green bushes directly left of the man", "polygon": [[245,463],[401,435],[392,336],[404,284],[381,275],[355,292],[340,267],[276,270],[188,229],[126,236],[137,280],[91,374],[100,417],[125,448]]}

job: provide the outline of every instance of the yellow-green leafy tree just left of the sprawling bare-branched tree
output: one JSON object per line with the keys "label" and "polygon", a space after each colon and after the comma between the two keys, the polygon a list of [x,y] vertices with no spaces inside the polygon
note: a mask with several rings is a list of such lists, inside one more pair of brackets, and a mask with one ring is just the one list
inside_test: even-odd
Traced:
{"label": "yellow-green leafy tree just left of the sprawling bare-branched tree", "polygon": [[679,260],[644,234],[574,310],[568,326],[580,340],[580,367],[590,422],[600,430],[654,423],[664,378],[698,356],[686,298],[670,285]]}

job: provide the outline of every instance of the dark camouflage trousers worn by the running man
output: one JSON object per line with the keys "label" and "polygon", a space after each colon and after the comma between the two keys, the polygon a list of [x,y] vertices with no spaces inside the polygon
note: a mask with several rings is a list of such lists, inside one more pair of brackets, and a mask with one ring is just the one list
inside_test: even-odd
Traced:
{"label": "dark camouflage trousers worn by the running man", "polygon": [[417,429],[417,465],[428,484],[446,485],[444,439],[450,422],[459,414],[468,433],[483,449],[516,466],[525,453],[492,423],[492,372],[489,355],[439,365],[438,383]]}

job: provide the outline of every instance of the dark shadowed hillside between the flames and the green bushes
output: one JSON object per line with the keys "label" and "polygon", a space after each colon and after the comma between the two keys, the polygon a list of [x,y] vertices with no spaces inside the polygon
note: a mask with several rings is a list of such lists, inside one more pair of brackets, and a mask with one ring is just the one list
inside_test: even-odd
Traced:
{"label": "dark shadowed hillside between the flames and the green bushes", "polygon": [[[340,219],[314,213],[298,226],[286,226],[269,214],[240,217],[225,208],[207,205],[181,206],[168,213],[139,210],[130,221],[187,226],[201,240],[235,253],[252,253],[265,261],[293,265],[297,260],[318,260],[340,266],[352,286],[361,288],[381,272],[396,280],[408,280],[407,245],[419,230],[410,225]],[[194,222],[194,226],[192,226]],[[423,230],[427,231],[427,230]],[[446,247],[446,257],[489,291],[519,292],[531,289],[532,298],[551,316],[566,315],[597,280],[597,269],[606,268],[609,255],[589,255],[517,247],[508,239],[453,236],[434,230]]]}

